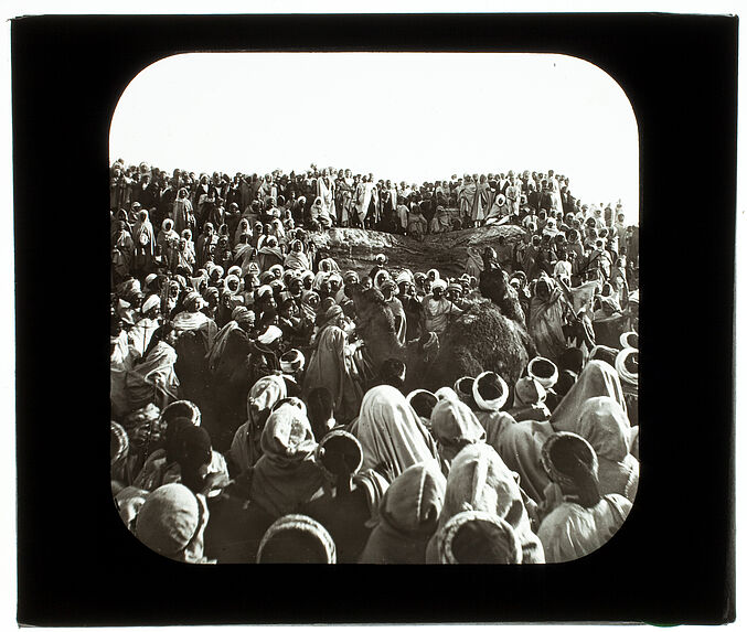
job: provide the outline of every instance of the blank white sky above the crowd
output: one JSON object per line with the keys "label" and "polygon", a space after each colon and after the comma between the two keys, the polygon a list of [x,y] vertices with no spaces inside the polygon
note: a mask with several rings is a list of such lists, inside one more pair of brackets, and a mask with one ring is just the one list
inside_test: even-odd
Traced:
{"label": "blank white sky above the crowd", "polygon": [[110,159],[232,175],[350,168],[408,183],[543,171],[638,217],[638,127],[597,66],[565,55],[193,53],[125,89]]}

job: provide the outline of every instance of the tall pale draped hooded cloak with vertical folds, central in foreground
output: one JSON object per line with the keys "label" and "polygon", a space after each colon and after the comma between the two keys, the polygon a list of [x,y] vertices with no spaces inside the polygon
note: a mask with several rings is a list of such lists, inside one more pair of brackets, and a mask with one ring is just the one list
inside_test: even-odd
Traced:
{"label": "tall pale draped hooded cloak with vertical folds, central in foreground", "polygon": [[386,384],[365,394],[351,431],[363,447],[363,469],[384,463],[397,476],[413,463],[437,459],[436,443],[417,413]]}

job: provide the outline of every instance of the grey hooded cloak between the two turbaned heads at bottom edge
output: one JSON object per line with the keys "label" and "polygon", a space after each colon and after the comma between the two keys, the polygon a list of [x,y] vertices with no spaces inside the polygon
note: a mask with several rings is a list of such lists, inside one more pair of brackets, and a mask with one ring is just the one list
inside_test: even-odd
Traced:
{"label": "grey hooded cloak between the two turbaned heads at bottom edge", "polygon": [[386,490],[362,564],[423,564],[444,505],[446,479],[435,461],[414,463]]}

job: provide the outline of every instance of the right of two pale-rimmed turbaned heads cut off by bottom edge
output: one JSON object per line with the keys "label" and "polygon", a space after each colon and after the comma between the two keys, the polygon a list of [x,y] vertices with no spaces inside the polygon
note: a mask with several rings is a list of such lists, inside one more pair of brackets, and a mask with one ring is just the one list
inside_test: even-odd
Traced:
{"label": "right of two pale-rimmed turbaned heads cut off by bottom edge", "polygon": [[440,564],[521,564],[522,547],[513,527],[488,512],[455,515],[436,539]]}

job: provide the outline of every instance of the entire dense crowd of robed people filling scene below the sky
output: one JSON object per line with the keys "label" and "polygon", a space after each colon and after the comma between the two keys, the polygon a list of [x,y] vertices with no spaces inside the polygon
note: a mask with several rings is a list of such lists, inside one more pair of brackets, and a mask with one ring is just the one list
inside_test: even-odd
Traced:
{"label": "entire dense crowd of robed people filling scene below the sky", "polygon": [[[145,545],[203,564],[541,564],[626,519],[639,291],[620,204],[581,203],[553,171],[110,175],[111,488]],[[343,271],[314,240],[502,224],[521,237],[468,248],[459,277],[384,253]],[[361,297],[437,363],[495,278],[531,340],[519,379],[426,389],[406,356],[373,361]]]}

